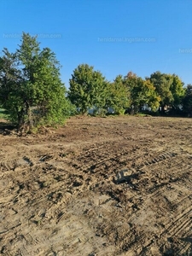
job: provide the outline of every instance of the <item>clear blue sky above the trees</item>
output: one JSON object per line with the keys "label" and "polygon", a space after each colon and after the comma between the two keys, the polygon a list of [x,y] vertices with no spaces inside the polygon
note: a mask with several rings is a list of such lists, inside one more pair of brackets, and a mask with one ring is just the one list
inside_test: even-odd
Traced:
{"label": "clear blue sky above the trees", "polygon": [[0,50],[15,51],[22,32],[37,34],[67,87],[82,63],[111,81],[160,71],[192,84],[191,0],[1,0],[0,9]]}

